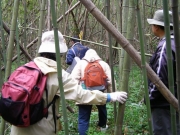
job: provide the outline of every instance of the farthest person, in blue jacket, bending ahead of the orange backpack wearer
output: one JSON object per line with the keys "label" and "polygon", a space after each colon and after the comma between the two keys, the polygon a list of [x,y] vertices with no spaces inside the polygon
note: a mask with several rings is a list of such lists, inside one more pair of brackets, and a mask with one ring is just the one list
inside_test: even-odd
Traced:
{"label": "farthest person, in blue jacket, bending ahead of the orange backpack wearer", "polygon": [[80,43],[78,36],[74,36],[70,40],[72,47],[68,50],[66,54],[66,64],[70,65],[67,68],[67,72],[71,73],[76,63],[82,59],[89,49],[87,46],[84,46]]}

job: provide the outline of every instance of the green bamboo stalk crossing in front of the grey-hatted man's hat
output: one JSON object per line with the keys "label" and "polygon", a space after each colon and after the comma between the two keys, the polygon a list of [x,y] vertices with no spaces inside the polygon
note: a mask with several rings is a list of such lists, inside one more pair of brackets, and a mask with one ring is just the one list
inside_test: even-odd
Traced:
{"label": "green bamboo stalk crossing in front of the grey-hatted man's hat", "polygon": [[[168,67],[168,85],[169,90],[174,95],[174,73],[173,73],[173,63],[172,63],[172,50],[171,50],[171,38],[170,38],[170,21],[169,21],[169,10],[168,1],[163,0],[163,13],[164,13],[164,28],[166,36],[166,55],[167,55],[167,67]],[[177,135],[176,126],[176,111],[170,105],[171,112],[171,132],[173,135]]]}

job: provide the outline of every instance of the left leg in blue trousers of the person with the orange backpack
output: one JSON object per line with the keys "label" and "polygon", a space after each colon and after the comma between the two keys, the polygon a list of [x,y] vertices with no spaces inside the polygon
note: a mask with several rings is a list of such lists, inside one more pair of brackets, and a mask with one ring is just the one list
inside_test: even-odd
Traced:
{"label": "left leg in blue trousers of the person with the orange backpack", "polygon": [[79,105],[78,108],[79,135],[87,135],[92,105]]}

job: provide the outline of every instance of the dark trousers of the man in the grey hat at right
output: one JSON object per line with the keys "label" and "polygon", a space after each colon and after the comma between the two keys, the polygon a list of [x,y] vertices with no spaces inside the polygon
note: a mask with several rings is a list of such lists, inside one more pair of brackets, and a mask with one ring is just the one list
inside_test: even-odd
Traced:
{"label": "dark trousers of the man in the grey hat at right", "polygon": [[[152,109],[153,135],[172,135],[170,110]],[[176,114],[177,135],[180,135],[179,116]]]}

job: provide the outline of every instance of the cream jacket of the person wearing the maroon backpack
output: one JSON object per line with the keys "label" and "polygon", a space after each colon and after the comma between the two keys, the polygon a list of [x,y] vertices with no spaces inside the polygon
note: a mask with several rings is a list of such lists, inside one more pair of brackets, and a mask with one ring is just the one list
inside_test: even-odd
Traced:
{"label": "cream jacket of the person wearing the maroon backpack", "polygon": [[[48,90],[48,103],[53,100],[55,95],[60,96],[60,90],[58,85],[58,75],[57,75],[57,63],[53,60],[37,57],[34,62],[41,69],[44,74],[48,75],[47,78],[47,90]],[[71,77],[69,73],[62,70],[62,81],[64,88],[65,99],[74,100],[79,103],[86,104],[105,104],[107,100],[107,95],[100,91],[85,91],[77,82]],[[46,94],[43,94],[43,99],[46,101]],[[56,115],[58,115],[60,98],[56,100]],[[57,131],[59,120],[57,120]],[[48,117],[43,118],[39,122],[26,127],[11,127],[11,135],[56,135],[54,120],[52,114],[52,106],[48,109]]]}

